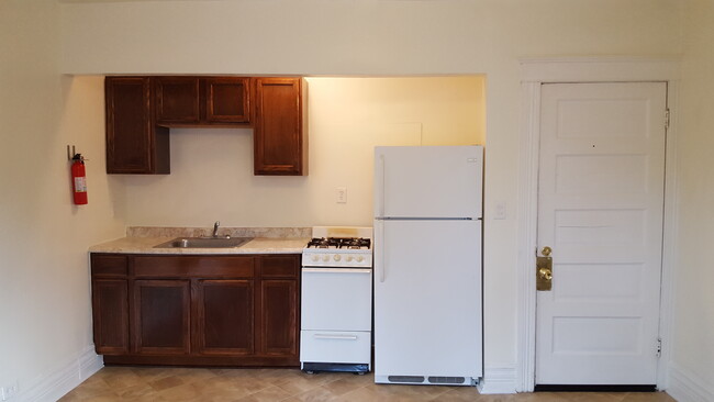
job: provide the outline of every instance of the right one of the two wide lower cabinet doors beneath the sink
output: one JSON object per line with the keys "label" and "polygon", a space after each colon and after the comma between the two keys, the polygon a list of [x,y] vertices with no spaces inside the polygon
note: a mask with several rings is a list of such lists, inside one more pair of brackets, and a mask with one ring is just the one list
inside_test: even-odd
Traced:
{"label": "right one of the two wide lower cabinet doors beneath the sink", "polygon": [[194,350],[201,355],[253,355],[254,281],[199,280]]}

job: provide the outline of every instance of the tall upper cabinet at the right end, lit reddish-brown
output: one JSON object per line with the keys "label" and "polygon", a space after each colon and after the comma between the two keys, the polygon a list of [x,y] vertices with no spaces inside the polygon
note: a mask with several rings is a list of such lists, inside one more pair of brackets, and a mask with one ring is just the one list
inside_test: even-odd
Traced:
{"label": "tall upper cabinet at the right end, lit reddish-brown", "polygon": [[304,86],[301,78],[255,79],[255,175],[306,175]]}

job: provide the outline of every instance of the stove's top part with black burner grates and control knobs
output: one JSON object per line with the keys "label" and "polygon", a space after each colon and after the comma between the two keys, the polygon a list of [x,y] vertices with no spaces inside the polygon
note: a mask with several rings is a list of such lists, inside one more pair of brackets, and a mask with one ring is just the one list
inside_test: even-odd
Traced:
{"label": "stove's top part with black burner grates and control knobs", "polygon": [[302,250],[303,267],[371,268],[371,227],[315,226]]}

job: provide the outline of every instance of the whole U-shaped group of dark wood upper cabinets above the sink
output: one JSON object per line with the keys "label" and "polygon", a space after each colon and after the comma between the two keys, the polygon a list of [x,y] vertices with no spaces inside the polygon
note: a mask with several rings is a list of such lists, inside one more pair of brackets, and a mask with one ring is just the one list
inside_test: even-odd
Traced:
{"label": "whole U-shaped group of dark wood upper cabinets above the sink", "polygon": [[107,77],[104,82],[108,174],[169,174],[169,127],[244,126],[254,127],[254,175],[306,175],[301,78]]}

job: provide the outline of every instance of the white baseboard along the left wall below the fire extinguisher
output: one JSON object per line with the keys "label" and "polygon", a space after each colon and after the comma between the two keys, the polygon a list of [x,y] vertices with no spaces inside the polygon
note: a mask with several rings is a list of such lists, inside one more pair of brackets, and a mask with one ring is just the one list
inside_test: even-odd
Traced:
{"label": "white baseboard along the left wall below the fire extinguisher", "polygon": [[94,346],[90,345],[53,372],[41,376],[24,387],[21,386],[18,401],[56,401],[102,367],[104,367],[102,357],[98,356],[94,353]]}

